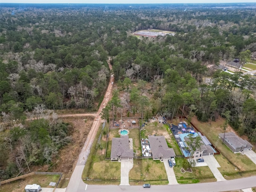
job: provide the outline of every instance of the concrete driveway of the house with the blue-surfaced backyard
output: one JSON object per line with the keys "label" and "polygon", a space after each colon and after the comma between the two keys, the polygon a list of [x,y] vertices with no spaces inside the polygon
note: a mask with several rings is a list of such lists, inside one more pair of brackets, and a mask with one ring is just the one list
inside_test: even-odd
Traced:
{"label": "concrete driveway of the house with the blue-surfaced backyard", "polygon": [[207,163],[208,167],[212,171],[212,174],[217,179],[217,181],[225,181],[226,179],[224,179],[220,171],[217,169],[218,167],[220,167],[220,164],[215,159],[215,157],[213,155],[209,155],[209,156],[203,156],[203,158],[204,158],[204,162]]}

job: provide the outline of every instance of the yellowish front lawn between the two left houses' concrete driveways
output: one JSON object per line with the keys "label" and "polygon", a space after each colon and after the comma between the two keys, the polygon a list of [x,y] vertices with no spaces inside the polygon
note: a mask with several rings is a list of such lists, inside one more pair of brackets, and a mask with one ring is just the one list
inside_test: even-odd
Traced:
{"label": "yellowish front lawn between the two left houses' concrete driveways", "polygon": [[152,159],[134,159],[129,173],[130,184],[168,184],[164,163]]}

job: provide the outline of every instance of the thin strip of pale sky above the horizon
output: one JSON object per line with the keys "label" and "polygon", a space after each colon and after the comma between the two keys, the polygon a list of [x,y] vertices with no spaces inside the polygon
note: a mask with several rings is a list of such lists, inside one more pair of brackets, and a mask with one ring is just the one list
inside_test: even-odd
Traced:
{"label": "thin strip of pale sky above the horizon", "polygon": [[160,4],[160,3],[256,3],[256,0],[0,0],[0,3],[60,4]]}

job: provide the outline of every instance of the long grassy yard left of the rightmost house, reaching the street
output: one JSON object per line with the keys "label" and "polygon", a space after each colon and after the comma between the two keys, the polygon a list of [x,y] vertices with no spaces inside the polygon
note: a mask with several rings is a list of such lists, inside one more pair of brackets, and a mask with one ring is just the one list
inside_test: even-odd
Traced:
{"label": "long grassy yard left of the rightmost house, reaching the street", "polygon": [[[222,128],[224,124],[223,118],[218,118],[216,122],[211,122],[210,125],[208,122],[199,122],[196,116],[194,116],[192,123],[197,126],[198,130],[204,134],[212,144],[215,145],[217,143],[216,148],[220,151],[222,156],[216,155],[215,157],[221,166],[219,170],[222,175],[227,175],[230,179],[256,175],[256,165],[246,155],[242,155],[241,153],[234,154],[228,146],[222,144],[222,141],[219,140],[218,134],[224,132]],[[228,126],[226,132],[231,131],[234,130]],[[234,168],[237,168],[237,171],[234,170]]]}

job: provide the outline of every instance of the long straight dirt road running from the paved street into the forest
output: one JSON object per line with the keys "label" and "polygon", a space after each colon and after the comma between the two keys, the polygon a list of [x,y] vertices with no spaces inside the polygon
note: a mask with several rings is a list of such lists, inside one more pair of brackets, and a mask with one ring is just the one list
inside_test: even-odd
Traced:
{"label": "long straight dirt road running from the paved street into the forest", "polygon": [[[109,66],[110,70],[112,70],[112,66],[110,64],[110,58],[108,59],[108,66]],[[100,127],[100,124],[103,122],[103,120],[101,120],[101,118],[100,118],[100,113],[102,112],[103,107],[106,106],[106,104],[108,103],[108,101],[110,99],[113,83],[114,83],[114,76],[111,75],[104,99],[103,99],[102,103],[100,104],[100,108],[99,108],[98,112],[96,114],[94,114],[95,119],[92,124],[92,128],[88,134],[86,142],[84,143],[84,147],[82,148],[82,151],[78,157],[78,161],[76,163],[76,168],[74,169],[74,171],[72,173],[72,176],[68,183],[68,187],[66,189],[66,192],[76,192],[76,191],[78,191],[78,188],[85,185],[81,179],[82,172],[84,170],[84,165],[85,165],[88,155],[90,153],[90,148],[91,148],[92,142],[94,141],[94,138],[96,136],[97,130]],[[82,116],[84,114],[77,114],[77,115]],[[90,115],[92,115],[92,114],[90,114]]]}

